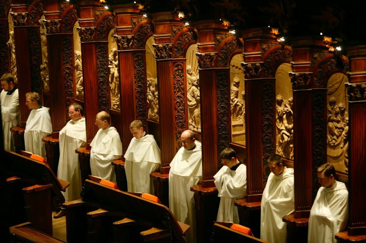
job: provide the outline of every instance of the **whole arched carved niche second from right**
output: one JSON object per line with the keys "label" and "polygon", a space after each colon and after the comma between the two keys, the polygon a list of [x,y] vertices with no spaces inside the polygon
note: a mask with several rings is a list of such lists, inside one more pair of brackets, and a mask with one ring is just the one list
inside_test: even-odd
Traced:
{"label": "whole arched carved niche second from right", "polygon": [[290,63],[281,64],[276,70],[276,154],[294,159],[294,112],[292,111],[292,85]]}

